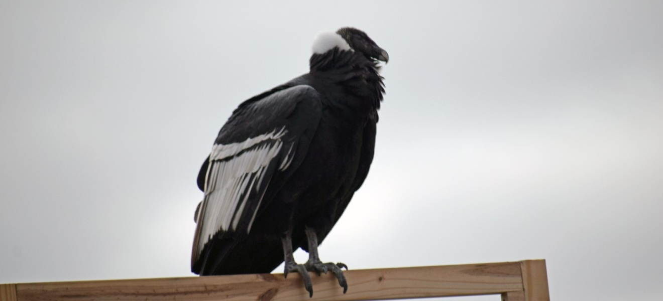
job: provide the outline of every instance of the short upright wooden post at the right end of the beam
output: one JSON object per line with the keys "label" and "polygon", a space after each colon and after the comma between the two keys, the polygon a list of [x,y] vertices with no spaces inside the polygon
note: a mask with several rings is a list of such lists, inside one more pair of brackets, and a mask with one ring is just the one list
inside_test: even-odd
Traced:
{"label": "short upright wooden post at the right end of the beam", "polygon": [[546,260],[520,261],[520,271],[522,273],[522,286],[525,290],[525,300],[550,301]]}

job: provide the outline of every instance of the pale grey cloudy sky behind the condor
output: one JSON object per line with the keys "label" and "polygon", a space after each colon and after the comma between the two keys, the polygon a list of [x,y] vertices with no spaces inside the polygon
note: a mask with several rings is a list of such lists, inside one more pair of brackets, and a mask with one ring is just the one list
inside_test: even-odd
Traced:
{"label": "pale grey cloudy sky behind the condor", "polygon": [[317,32],[355,26],[389,52],[387,95],[371,173],[323,260],[545,258],[554,300],[661,300],[662,12],[0,1],[0,282],[192,275],[217,131],[306,73]]}

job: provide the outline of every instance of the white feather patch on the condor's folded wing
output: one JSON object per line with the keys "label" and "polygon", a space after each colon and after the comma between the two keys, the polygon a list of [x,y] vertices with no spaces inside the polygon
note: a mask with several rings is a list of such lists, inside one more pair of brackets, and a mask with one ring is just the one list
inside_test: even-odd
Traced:
{"label": "white feather patch on the condor's folded wing", "polygon": [[[198,236],[199,252],[217,232],[235,231],[249,196],[259,193],[265,171],[283,148],[284,142],[280,138],[286,132],[283,127],[278,132],[273,130],[243,142],[215,144],[212,147],[210,168],[205,179],[205,198],[197,218],[198,222],[202,222],[202,225],[199,225],[202,226]],[[279,170],[282,171],[290,165],[294,157],[291,151],[292,145],[278,166]],[[269,179],[267,181],[269,184]],[[254,212],[247,215],[251,216],[247,233],[251,230],[263,194],[259,196]],[[196,254],[196,257],[198,255]]]}

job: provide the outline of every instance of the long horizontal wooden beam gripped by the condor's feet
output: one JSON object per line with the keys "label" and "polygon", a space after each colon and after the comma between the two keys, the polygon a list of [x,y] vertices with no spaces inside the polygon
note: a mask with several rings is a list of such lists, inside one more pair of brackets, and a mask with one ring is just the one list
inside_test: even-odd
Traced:
{"label": "long horizontal wooden beam gripped by the condor's feet", "polygon": [[331,273],[312,274],[313,298],[299,275],[282,274],[101,280],[17,284],[19,301],[29,300],[385,300],[522,291],[514,263],[447,265],[347,271],[347,294]]}

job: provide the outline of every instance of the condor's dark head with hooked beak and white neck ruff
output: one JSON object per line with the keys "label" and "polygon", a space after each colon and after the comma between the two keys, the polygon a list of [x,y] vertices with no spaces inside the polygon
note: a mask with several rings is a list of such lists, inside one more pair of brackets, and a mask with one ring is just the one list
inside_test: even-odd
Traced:
{"label": "condor's dark head with hooked beak and white neck ruff", "polygon": [[343,27],[336,32],[321,32],[313,42],[313,53],[324,54],[333,48],[361,52],[371,60],[389,62],[389,54],[377,46],[369,36],[352,27]]}

